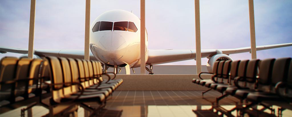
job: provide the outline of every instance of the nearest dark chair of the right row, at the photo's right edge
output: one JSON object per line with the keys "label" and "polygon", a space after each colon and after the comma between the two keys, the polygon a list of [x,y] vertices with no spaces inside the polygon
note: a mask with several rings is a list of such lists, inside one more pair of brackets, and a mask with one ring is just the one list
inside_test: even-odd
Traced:
{"label": "nearest dark chair of the right row, at the photo's right edge", "polygon": [[[262,63],[261,63],[262,64]],[[269,85],[269,89],[260,88],[257,92],[250,92],[246,99],[251,102],[242,110],[247,110],[250,107],[266,103],[268,105],[279,105],[282,108],[292,109],[291,86],[292,86],[292,64],[291,58],[276,59],[272,70],[272,78],[259,79],[262,84]],[[268,109],[271,109],[267,107]],[[272,109],[271,109],[272,110]]]}

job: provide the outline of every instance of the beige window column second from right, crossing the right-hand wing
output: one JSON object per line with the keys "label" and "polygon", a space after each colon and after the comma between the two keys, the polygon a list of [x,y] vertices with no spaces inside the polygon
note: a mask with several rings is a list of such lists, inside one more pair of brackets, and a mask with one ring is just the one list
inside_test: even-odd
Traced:
{"label": "beige window column second from right, crossing the right-hand wing", "polygon": [[195,0],[195,25],[196,25],[196,62],[197,74],[201,72],[201,34],[200,34],[200,3]]}

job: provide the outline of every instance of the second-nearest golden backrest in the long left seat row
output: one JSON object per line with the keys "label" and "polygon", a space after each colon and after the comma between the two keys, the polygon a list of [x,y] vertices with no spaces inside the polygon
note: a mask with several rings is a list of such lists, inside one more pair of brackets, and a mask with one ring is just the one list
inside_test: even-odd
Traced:
{"label": "second-nearest golden backrest in the long left seat row", "polygon": [[63,93],[65,96],[72,94],[72,84],[69,84],[72,82],[72,74],[71,74],[71,68],[69,65],[69,62],[66,58],[64,57],[59,57],[59,60],[61,62],[61,66],[62,66],[62,71],[63,71],[63,82],[67,83],[64,84],[63,87]]}

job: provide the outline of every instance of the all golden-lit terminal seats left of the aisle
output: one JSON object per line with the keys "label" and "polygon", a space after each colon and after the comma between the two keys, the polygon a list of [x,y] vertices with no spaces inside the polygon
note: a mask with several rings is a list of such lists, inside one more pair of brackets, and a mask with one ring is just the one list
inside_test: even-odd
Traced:
{"label": "all golden-lit terminal seats left of the aisle", "polygon": [[[76,113],[77,105],[93,115],[98,114],[107,97],[123,82],[100,73],[100,69],[100,62],[81,59],[51,56],[44,60],[3,58],[1,113],[28,105],[22,109],[21,116],[24,116],[25,110],[38,104],[50,110],[46,116]],[[108,80],[102,82],[102,75],[107,75]],[[12,105],[15,103],[18,106]]]}

